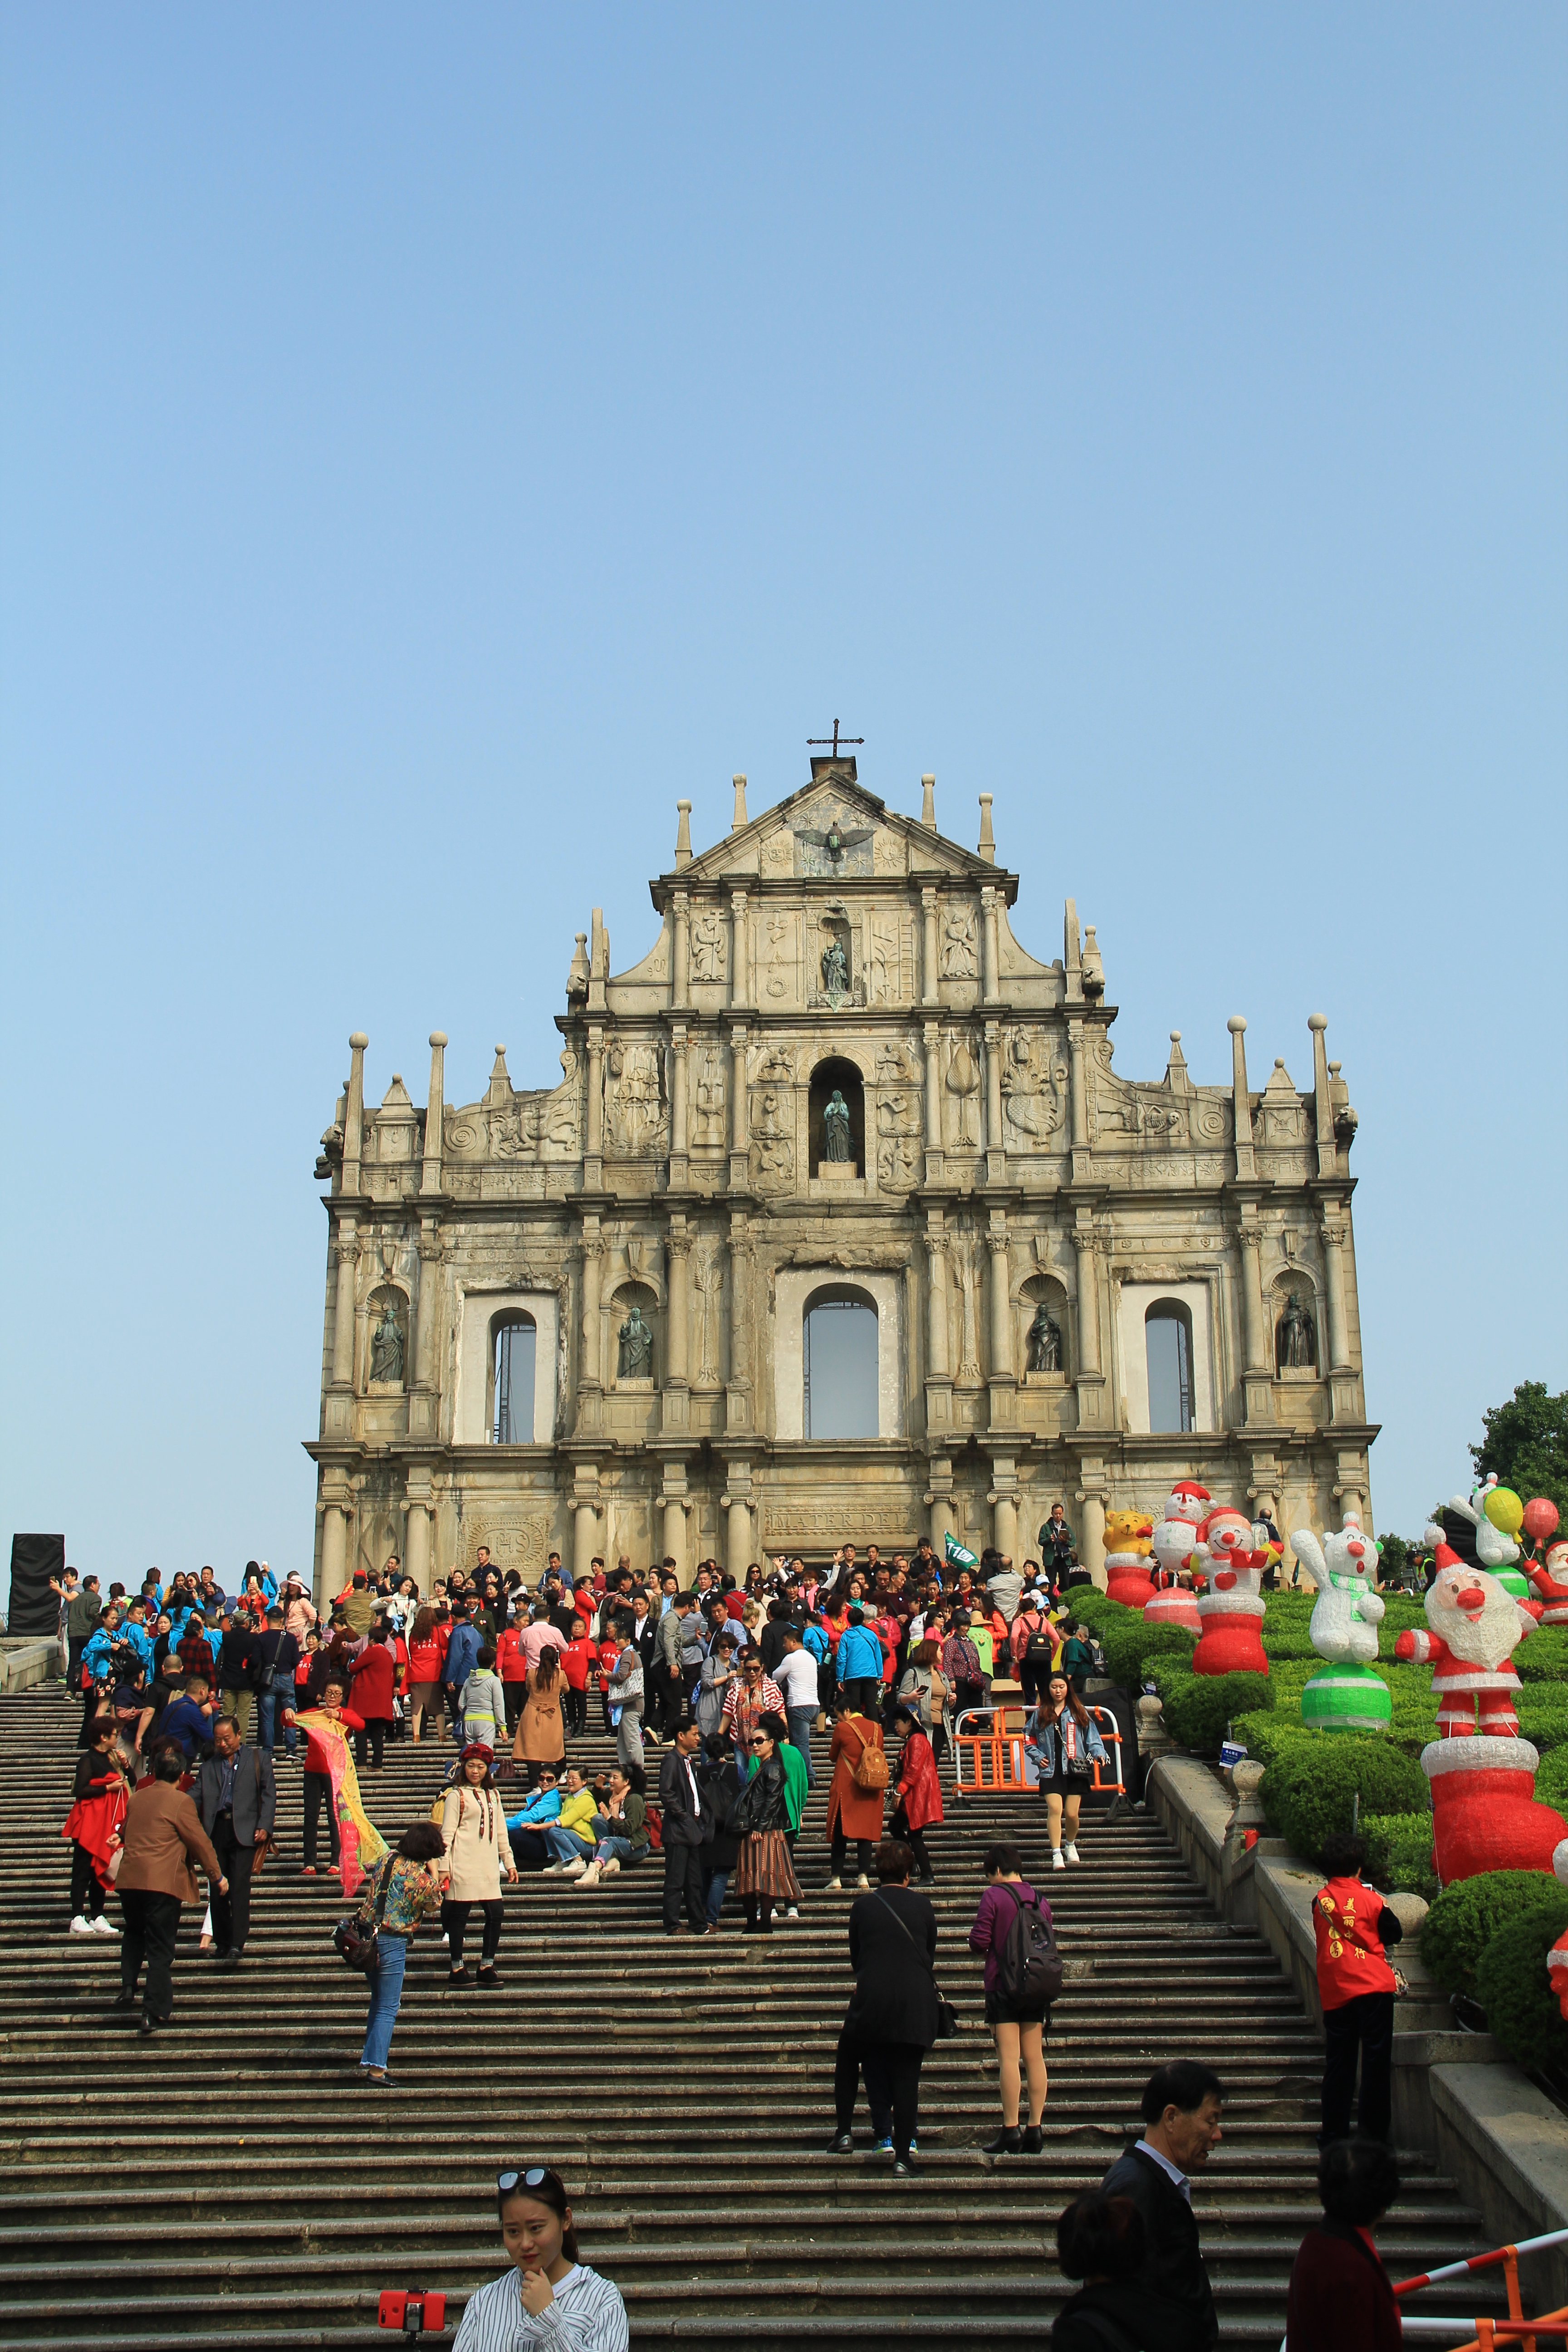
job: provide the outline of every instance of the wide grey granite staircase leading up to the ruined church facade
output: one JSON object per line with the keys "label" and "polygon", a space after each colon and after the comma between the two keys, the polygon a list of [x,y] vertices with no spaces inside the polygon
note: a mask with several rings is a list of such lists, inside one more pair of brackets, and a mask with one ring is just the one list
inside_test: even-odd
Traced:
{"label": "wide grey granite staircase leading up to the ruined church facade", "polygon": [[[592,1896],[541,1877],[508,1889],[496,1992],[449,1992],[440,1943],[421,1938],[393,2096],[357,2082],[364,1985],[329,1943],[336,1884],[296,1877],[301,1788],[282,1757],[282,1853],[242,1969],[202,1962],[186,1910],[174,2025],[141,2042],[110,2011],[118,1940],[66,1933],[78,1719],[59,1684],[0,1700],[7,2345],[388,2343],[383,2286],[444,2288],[456,2321],[505,2267],[494,2173],[541,2159],[571,2185],[583,2258],[621,2286],[637,2343],[1039,2343],[1072,2293],[1056,2216],[1135,2136],[1143,2082],[1173,2056],[1208,2060],[1229,2093],[1194,2183],[1225,2340],[1279,2345],[1319,2211],[1321,2046],[1267,1943],[1215,1917],[1154,1818],[1091,1816],[1084,1865],[1051,1877],[1032,1799],[947,1804],[931,1835],[938,1980],[966,2032],[926,2060],[924,2173],[896,2180],[865,2152],[863,2107],[856,2157],[823,2152],[849,1898],[823,1893],[820,1778],[797,1851],[806,1903],[771,1940],[741,1936],[733,1898],[719,1938],[665,1938],[658,1858]],[[585,1769],[609,1757],[592,1733],[574,1750]],[[388,1745],[362,1776],[376,1823],[397,1837],[423,1818],[449,1759]],[[1046,2152],[992,2161],[997,2065],[964,1938],[999,1835],[1048,1891],[1072,1980],[1048,2039]],[[1453,2183],[1418,2157],[1406,2180],[1380,2237],[1396,2277],[1481,2251]]]}

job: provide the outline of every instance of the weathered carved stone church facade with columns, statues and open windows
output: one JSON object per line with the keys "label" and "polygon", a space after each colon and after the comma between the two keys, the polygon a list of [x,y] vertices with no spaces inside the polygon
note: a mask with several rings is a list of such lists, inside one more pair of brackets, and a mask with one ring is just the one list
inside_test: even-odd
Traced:
{"label": "weathered carved stone church facade with columns, statues and open windows", "polygon": [[[943,1531],[1030,1552],[1060,1496],[1091,1564],[1107,1510],[1173,1477],[1281,1526],[1368,1519],[1349,1143],[1312,1016],[1284,1061],[1194,1087],[1112,1068],[1093,927],[1013,938],[1016,875],[867,793],[849,757],[651,884],[661,931],[611,976],[599,913],[567,976],[559,1084],[477,1103],[367,1040],[329,1178],[317,1578],[397,1550],[428,1585],[480,1543],[529,1576],[618,1552],[736,1573],[762,1552]],[[832,1098],[839,1098],[837,1103]],[[844,1157],[844,1150],[849,1157]],[[877,1437],[809,1439],[802,1327],[877,1312]],[[1192,1428],[1150,1432],[1145,1317],[1185,1310]],[[1044,1310],[1044,1312],[1041,1312]],[[534,1381],[496,1442],[503,1324]],[[1030,1369],[1039,1364],[1041,1369]]]}

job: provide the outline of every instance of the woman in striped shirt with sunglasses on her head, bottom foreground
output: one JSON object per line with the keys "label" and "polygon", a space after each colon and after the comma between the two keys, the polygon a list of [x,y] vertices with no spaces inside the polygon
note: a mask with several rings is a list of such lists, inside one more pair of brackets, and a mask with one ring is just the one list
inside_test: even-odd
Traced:
{"label": "woman in striped shirt with sunglasses on her head, bottom foreground", "polygon": [[625,2303],[578,2263],[562,2176],[548,2164],[498,2173],[496,2199],[512,2267],[468,2298],[451,2352],[625,2352]]}

